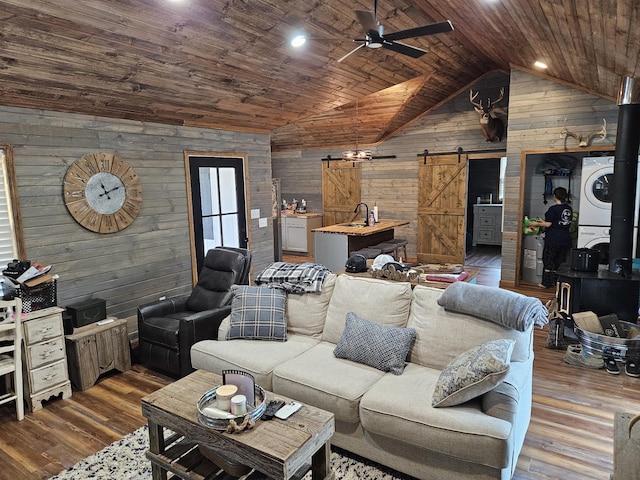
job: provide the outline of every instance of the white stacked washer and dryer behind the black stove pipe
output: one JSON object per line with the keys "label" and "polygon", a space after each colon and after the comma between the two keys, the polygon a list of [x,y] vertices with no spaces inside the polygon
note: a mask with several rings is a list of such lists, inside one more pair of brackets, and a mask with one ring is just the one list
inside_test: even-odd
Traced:
{"label": "white stacked washer and dryer behind the black stove pipe", "polygon": [[[611,231],[611,186],[614,157],[584,157],[580,182],[580,210],[578,215],[578,248],[600,250],[600,263],[609,263]],[[640,177],[639,177],[640,178]],[[638,232],[638,200],[640,181],[636,184],[633,251],[636,251]]]}

